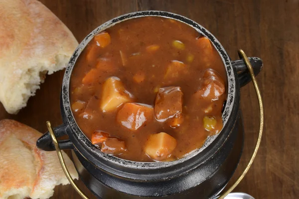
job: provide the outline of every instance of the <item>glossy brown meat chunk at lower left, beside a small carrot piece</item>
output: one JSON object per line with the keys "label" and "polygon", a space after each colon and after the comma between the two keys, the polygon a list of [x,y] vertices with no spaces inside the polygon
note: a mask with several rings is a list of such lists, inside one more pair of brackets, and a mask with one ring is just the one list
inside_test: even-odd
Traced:
{"label": "glossy brown meat chunk at lower left, beside a small carrot piece", "polygon": [[106,139],[102,143],[101,151],[103,153],[112,154],[112,155],[119,155],[126,151],[126,143],[123,140],[120,140],[115,137],[111,137]]}

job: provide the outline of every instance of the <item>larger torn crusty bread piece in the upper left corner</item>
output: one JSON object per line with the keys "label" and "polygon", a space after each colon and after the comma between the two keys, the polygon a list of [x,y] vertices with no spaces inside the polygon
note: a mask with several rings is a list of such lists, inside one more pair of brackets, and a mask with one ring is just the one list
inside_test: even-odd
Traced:
{"label": "larger torn crusty bread piece in the upper left corner", "polygon": [[37,0],[0,0],[0,101],[17,113],[46,73],[63,69],[78,42]]}

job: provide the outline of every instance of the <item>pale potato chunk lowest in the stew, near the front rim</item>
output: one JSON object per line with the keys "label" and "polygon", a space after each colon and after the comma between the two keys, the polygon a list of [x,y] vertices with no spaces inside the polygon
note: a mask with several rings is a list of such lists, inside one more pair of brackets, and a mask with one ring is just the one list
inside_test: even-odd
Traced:
{"label": "pale potato chunk lowest in the stew, near the front rim", "polygon": [[161,132],[149,135],[145,145],[146,154],[153,160],[165,160],[176,147],[176,140],[167,133]]}

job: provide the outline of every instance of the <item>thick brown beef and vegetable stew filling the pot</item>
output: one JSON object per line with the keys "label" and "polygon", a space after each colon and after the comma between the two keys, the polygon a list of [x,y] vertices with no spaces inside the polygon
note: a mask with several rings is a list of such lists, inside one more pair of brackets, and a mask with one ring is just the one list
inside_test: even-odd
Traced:
{"label": "thick brown beef and vegetable stew filling the pot", "polygon": [[161,17],[96,35],[71,77],[71,108],[92,143],[133,161],[170,161],[222,129],[226,72],[210,41]]}

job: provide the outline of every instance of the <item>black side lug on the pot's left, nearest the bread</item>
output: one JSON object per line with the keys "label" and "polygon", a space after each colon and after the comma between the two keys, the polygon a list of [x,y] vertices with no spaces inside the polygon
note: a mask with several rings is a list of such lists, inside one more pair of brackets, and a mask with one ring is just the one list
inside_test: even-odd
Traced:
{"label": "black side lug on the pot's left, nearest the bread", "polygon": [[[68,125],[66,125],[66,124],[61,124],[61,125],[55,127],[53,130],[54,130],[56,137],[61,137],[63,135],[66,135],[67,127],[68,127]],[[73,143],[69,139],[60,140],[60,141],[58,141],[58,144],[61,149],[73,149],[74,148]],[[36,141],[36,146],[44,151],[55,151],[55,146],[54,146],[54,143],[52,141],[49,131],[47,131],[40,138],[38,138],[38,140]]]}

